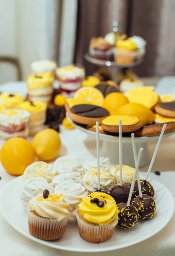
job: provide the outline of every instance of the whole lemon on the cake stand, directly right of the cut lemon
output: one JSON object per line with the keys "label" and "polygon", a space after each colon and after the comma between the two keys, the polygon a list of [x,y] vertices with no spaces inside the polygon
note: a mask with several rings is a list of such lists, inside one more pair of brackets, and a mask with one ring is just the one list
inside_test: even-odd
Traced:
{"label": "whole lemon on the cake stand, directly right of the cut lemon", "polygon": [[104,99],[103,108],[106,108],[111,116],[115,116],[118,109],[127,103],[129,100],[122,93],[109,93]]}

